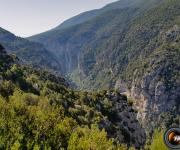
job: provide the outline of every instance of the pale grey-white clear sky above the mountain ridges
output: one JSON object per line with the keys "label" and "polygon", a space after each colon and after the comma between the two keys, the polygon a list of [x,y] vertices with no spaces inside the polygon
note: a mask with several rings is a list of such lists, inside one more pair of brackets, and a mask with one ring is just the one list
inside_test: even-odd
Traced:
{"label": "pale grey-white clear sky above the mountain ridges", "polygon": [[0,0],[0,27],[28,37],[117,0]]}

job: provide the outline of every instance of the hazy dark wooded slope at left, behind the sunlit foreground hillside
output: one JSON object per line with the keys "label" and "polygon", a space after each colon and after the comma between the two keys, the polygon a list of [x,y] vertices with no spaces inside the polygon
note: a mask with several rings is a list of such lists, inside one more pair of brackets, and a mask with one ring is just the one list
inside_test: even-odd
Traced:
{"label": "hazy dark wooded slope at left, behind the sunlit foreground hillside", "polygon": [[25,63],[35,67],[61,71],[60,63],[55,55],[41,44],[17,37],[3,28],[0,28],[0,42],[8,53],[16,54]]}

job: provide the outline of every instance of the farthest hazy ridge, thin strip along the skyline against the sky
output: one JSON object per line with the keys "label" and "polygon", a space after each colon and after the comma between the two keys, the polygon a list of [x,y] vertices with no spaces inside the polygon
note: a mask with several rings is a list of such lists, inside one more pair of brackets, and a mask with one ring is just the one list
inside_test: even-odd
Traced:
{"label": "farthest hazy ridge, thin strip along the skyline against the sky", "polygon": [[75,17],[72,17],[66,21],[64,21],[62,24],[58,25],[54,29],[40,33],[38,35],[34,35],[32,37],[29,37],[29,40],[37,41],[37,42],[43,42],[48,38],[48,36],[52,36],[55,32],[55,30],[64,30],[66,28],[70,28],[72,26],[84,23],[86,21],[89,21],[97,16],[100,16],[101,14],[115,9],[128,9],[131,8],[139,8],[141,6],[142,9],[149,9],[150,7],[153,7],[160,3],[162,0],[150,0],[150,1],[144,1],[144,0],[120,0],[111,4],[106,5],[105,7],[101,9],[96,9],[92,11],[87,11],[84,13],[81,13]]}

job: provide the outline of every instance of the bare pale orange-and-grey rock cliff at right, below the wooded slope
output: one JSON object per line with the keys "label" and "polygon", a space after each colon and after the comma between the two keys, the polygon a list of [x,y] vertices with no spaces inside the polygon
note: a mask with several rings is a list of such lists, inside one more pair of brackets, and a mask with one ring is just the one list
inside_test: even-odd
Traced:
{"label": "bare pale orange-and-grey rock cliff at right, below the wooded slope", "polygon": [[162,112],[178,107],[177,101],[180,98],[180,87],[168,91],[167,85],[159,76],[162,70],[156,70],[143,77],[140,85],[136,80],[132,82],[131,89],[127,88],[125,82],[116,82],[116,89],[134,100],[134,107],[138,110],[138,120],[144,122],[146,118],[157,118]]}

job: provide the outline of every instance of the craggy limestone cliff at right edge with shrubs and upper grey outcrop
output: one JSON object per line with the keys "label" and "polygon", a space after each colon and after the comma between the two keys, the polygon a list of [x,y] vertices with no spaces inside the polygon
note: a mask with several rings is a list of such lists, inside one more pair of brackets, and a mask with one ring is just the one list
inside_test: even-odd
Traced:
{"label": "craggy limestone cliff at right edge with shrubs and upper grey outcrop", "polygon": [[[116,89],[134,99],[138,119],[158,118],[162,112],[178,110],[180,100],[180,28],[177,25],[161,32],[163,46],[134,66],[131,82],[118,80]],[[128,67],[127,67],[128,68]],[[128,71],[128,69],[126,70]]]}

